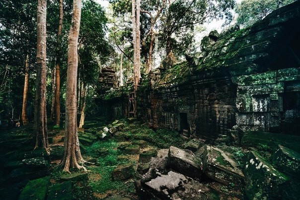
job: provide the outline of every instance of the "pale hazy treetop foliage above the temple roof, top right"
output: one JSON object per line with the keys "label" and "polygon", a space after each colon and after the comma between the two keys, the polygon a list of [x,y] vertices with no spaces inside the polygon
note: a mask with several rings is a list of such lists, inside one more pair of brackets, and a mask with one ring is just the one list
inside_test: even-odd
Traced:
{"label": "pale hazy treetop foliage above the temple roof, top right", "polygon": [[273,10],[287,5],[295,0],[243,0],[236,6],[237,24],[250,26],[266,17]]}

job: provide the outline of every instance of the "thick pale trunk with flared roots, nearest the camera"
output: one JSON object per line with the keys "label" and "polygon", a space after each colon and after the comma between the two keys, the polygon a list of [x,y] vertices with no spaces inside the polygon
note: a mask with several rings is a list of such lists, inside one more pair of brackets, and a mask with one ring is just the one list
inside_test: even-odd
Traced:
{"label": "thick pale trunk with flared roots, nearest the camera", "polygon": [[68,71],[67,71],[67,96],[66,96],[66,133],[65,150],[61,165],[64,171],[70,172],[70,168],[83,168],[80,162],[84,162],[77,133],[77,68],[78,55],[77,44],[80,27],[81,0],[73,1],[72,25],[68,37]]}

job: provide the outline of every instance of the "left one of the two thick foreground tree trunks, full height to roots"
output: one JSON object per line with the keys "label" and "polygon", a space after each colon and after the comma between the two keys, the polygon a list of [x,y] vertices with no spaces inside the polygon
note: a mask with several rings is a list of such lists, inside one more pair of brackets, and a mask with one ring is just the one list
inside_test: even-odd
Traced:
{"label": "left one of the two thick foreground tree trunks, full height to roots", "polygon": [[46,12],[47,0],[38,0],[37,5],[37,55],[36,55],[36,93],[35,93],[35,146],[43,147],[49,154],[46,111]]}

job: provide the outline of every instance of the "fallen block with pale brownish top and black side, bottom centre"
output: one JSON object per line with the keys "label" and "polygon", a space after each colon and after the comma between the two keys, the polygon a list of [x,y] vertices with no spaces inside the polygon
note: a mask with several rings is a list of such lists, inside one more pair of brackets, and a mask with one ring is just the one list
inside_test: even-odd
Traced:
{"label": "fallen block with pale brownish top and black side, bottom centre", "polygon": [[192,178],[200,178],[202,175],[201,160],[192,151],[181,150],[175,146],[169,148],[168,166]]}

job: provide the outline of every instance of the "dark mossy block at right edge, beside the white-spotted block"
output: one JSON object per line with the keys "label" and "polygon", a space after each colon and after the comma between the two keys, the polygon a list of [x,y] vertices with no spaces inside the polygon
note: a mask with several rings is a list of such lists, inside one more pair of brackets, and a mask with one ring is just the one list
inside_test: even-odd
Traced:
{"label": "dark mossy block at right edge, beside the white-spotted block", "polygon": [[278,145],[273,155],[273,164],[282,172],[300,178],[300,154],[282,145]]}

